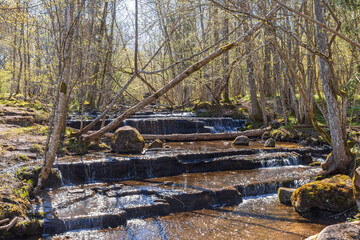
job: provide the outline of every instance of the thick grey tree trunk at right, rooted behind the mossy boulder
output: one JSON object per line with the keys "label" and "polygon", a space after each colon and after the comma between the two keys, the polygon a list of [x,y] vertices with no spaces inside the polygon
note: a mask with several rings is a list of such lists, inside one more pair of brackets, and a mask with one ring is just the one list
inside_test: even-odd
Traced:
{"label": "thick grey tree trunk at right, rooted behind the mossy boulder", "polygon": [[[315,0],[316,20],[325,23],[325,1]],[[318,50],[326,56],[329,56],[327,31],[320,26],[316,27],[316,38]],[[344,126],[342,122],[341,105],[337,98],[338,89],[333,84],[334,75],[331,71],[332,59],[319,58],[320,77],[325,94],[327,109],[329,113],[329,127],[332,140],[333,152],[326,162],[322,165],[325,174],[336,171],[347,172],[351,162],[350,151],[346,145],[346,136],[344,135]]]}

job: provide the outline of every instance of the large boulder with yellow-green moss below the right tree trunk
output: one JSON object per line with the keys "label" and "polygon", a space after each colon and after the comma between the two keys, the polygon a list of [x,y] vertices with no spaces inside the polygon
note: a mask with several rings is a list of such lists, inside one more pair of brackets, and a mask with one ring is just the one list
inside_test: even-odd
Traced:
{"label": "large boulder with yellow-green moss below the right tree trunk", "polygon": [[335,175],[321,181],[307,183],[296,189],[291,203],[300,214],[313,208],[343,212],[355,205],[352,180],[346,175]]}

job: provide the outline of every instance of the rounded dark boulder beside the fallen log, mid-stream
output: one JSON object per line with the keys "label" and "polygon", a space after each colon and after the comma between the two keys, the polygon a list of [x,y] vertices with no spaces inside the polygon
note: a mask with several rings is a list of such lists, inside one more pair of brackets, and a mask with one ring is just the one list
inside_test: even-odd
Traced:
{"label": "rounded dark boulder beside the fallen log, mid-stream", "polygon": [[141,153],[144,147],[144,138],[130,126],[116,130],[111,140],[111,149],[116,153]]}

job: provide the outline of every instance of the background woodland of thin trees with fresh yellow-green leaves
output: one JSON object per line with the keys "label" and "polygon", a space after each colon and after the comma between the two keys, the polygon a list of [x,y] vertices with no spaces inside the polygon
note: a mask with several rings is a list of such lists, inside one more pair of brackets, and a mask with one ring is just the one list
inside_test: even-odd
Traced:
{"label": "background woodland of thin trees with fresh yellow-green leaves", "polygon": [[[325,2],[329,4],[325,24],[360,42],[359,1]],[[25,99],[52,103],[66,67],[65,55],[71,55],[66,88],[72,110],[105,109],[137,72],[117,102],[134,105],[214,49],[264,22],[275,4],[143,0],[138,3],[136,38],[135,1],[2,0],[0,94],[22,94]],[[286,4],[315,19],[314,1]],[[70,21],[69,29],[66,21]],[[285,121],[294,116],[298,123],[311,123],[307,113],[311,106],[328,122],[317,63],[322,53],[317,49],[316,25],[286,8],[265,23],[234,50],[179,83],[160,102],[188,107],[198,101],[245,99],[250,100],[252,115],[259,120],[274,112]],[[359,91],[359,48],[340,38],[330,44],[331,56],[327,57],[333,62],[334,84],[347,92],[351,104]],[[264,109],[267,99],[273,100],[272,109]]]}

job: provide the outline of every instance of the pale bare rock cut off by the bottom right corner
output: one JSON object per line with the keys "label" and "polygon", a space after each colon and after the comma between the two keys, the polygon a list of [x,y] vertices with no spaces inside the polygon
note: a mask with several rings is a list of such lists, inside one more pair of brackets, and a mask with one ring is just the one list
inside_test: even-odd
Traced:
{"label": "pale bare rock cut off by the bottom right corner", "polygon": [[360,222],[340,223],[327,226],[318,235],[307,240],[360,239]]}

